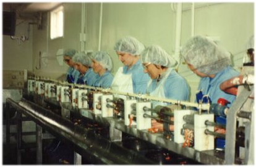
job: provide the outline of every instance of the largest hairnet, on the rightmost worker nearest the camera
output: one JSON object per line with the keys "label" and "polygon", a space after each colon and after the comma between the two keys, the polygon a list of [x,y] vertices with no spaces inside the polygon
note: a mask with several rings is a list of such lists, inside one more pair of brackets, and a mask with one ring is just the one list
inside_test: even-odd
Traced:
{"label": "largest hairnet, on the rightmost worker nearest the camera", "polygon": [[212,75],[228,67],[230,54],[207,37],[194,36],[182,47],[181,54],[187,63],[200,73]]}

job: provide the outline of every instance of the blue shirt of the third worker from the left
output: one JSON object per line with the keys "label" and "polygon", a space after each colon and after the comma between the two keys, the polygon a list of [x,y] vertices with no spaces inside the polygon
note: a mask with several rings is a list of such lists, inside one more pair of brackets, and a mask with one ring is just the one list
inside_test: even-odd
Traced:
{"label": "blue shirt of the third worker from the left", "polygon": [[100,87],[100,88],[110,88],[112,81],[113,81],[113,75],[109,71],[105,71],[103,75],[97,75],[98,77],[96,78],[95,87]]}

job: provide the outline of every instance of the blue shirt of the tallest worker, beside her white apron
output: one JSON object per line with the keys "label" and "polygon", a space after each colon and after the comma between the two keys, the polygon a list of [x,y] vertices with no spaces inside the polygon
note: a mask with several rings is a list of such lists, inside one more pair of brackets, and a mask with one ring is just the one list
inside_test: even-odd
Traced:
{"label": "blue shirt of the tallest worker, beside her white apron", "polygon": [[147,73],[144,73],[143,66],[141,60],[139,59],[132,67],[127,70],[128,66],[125,65],[123,67],[124,74],[132,74],[132,87],[134,89],[135,94],[145,94],[147,91],[148,81],[150,81],[150,77]]}

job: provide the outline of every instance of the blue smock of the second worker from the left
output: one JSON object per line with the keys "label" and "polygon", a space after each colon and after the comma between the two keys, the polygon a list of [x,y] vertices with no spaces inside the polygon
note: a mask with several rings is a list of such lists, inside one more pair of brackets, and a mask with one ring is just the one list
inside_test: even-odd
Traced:
{"label": "blue smock of the second worker from the left", "polygon": [[77,84],[87,84],[88,86],[93,86],[95,84],[98,75],[89,68],[84,75],[80,75],[79,79],[77,80]]}

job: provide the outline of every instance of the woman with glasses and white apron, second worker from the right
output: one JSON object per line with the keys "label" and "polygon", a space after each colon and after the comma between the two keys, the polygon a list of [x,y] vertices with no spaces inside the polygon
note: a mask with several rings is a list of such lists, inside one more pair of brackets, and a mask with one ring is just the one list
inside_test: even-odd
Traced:
{"label": "woman with glasses and white apron, second worker from the right", "polygon": [[[144,72],[151,78],[147,87],[150,96],[187,101],[189,86],[175,70],[176,60],[160,46],[150,46],[141,56]],[[158,103],[159,104],[159,103]],[[161,103],[163,105],[163,103]],[[155,105],[156,106],[156,105]]]}

